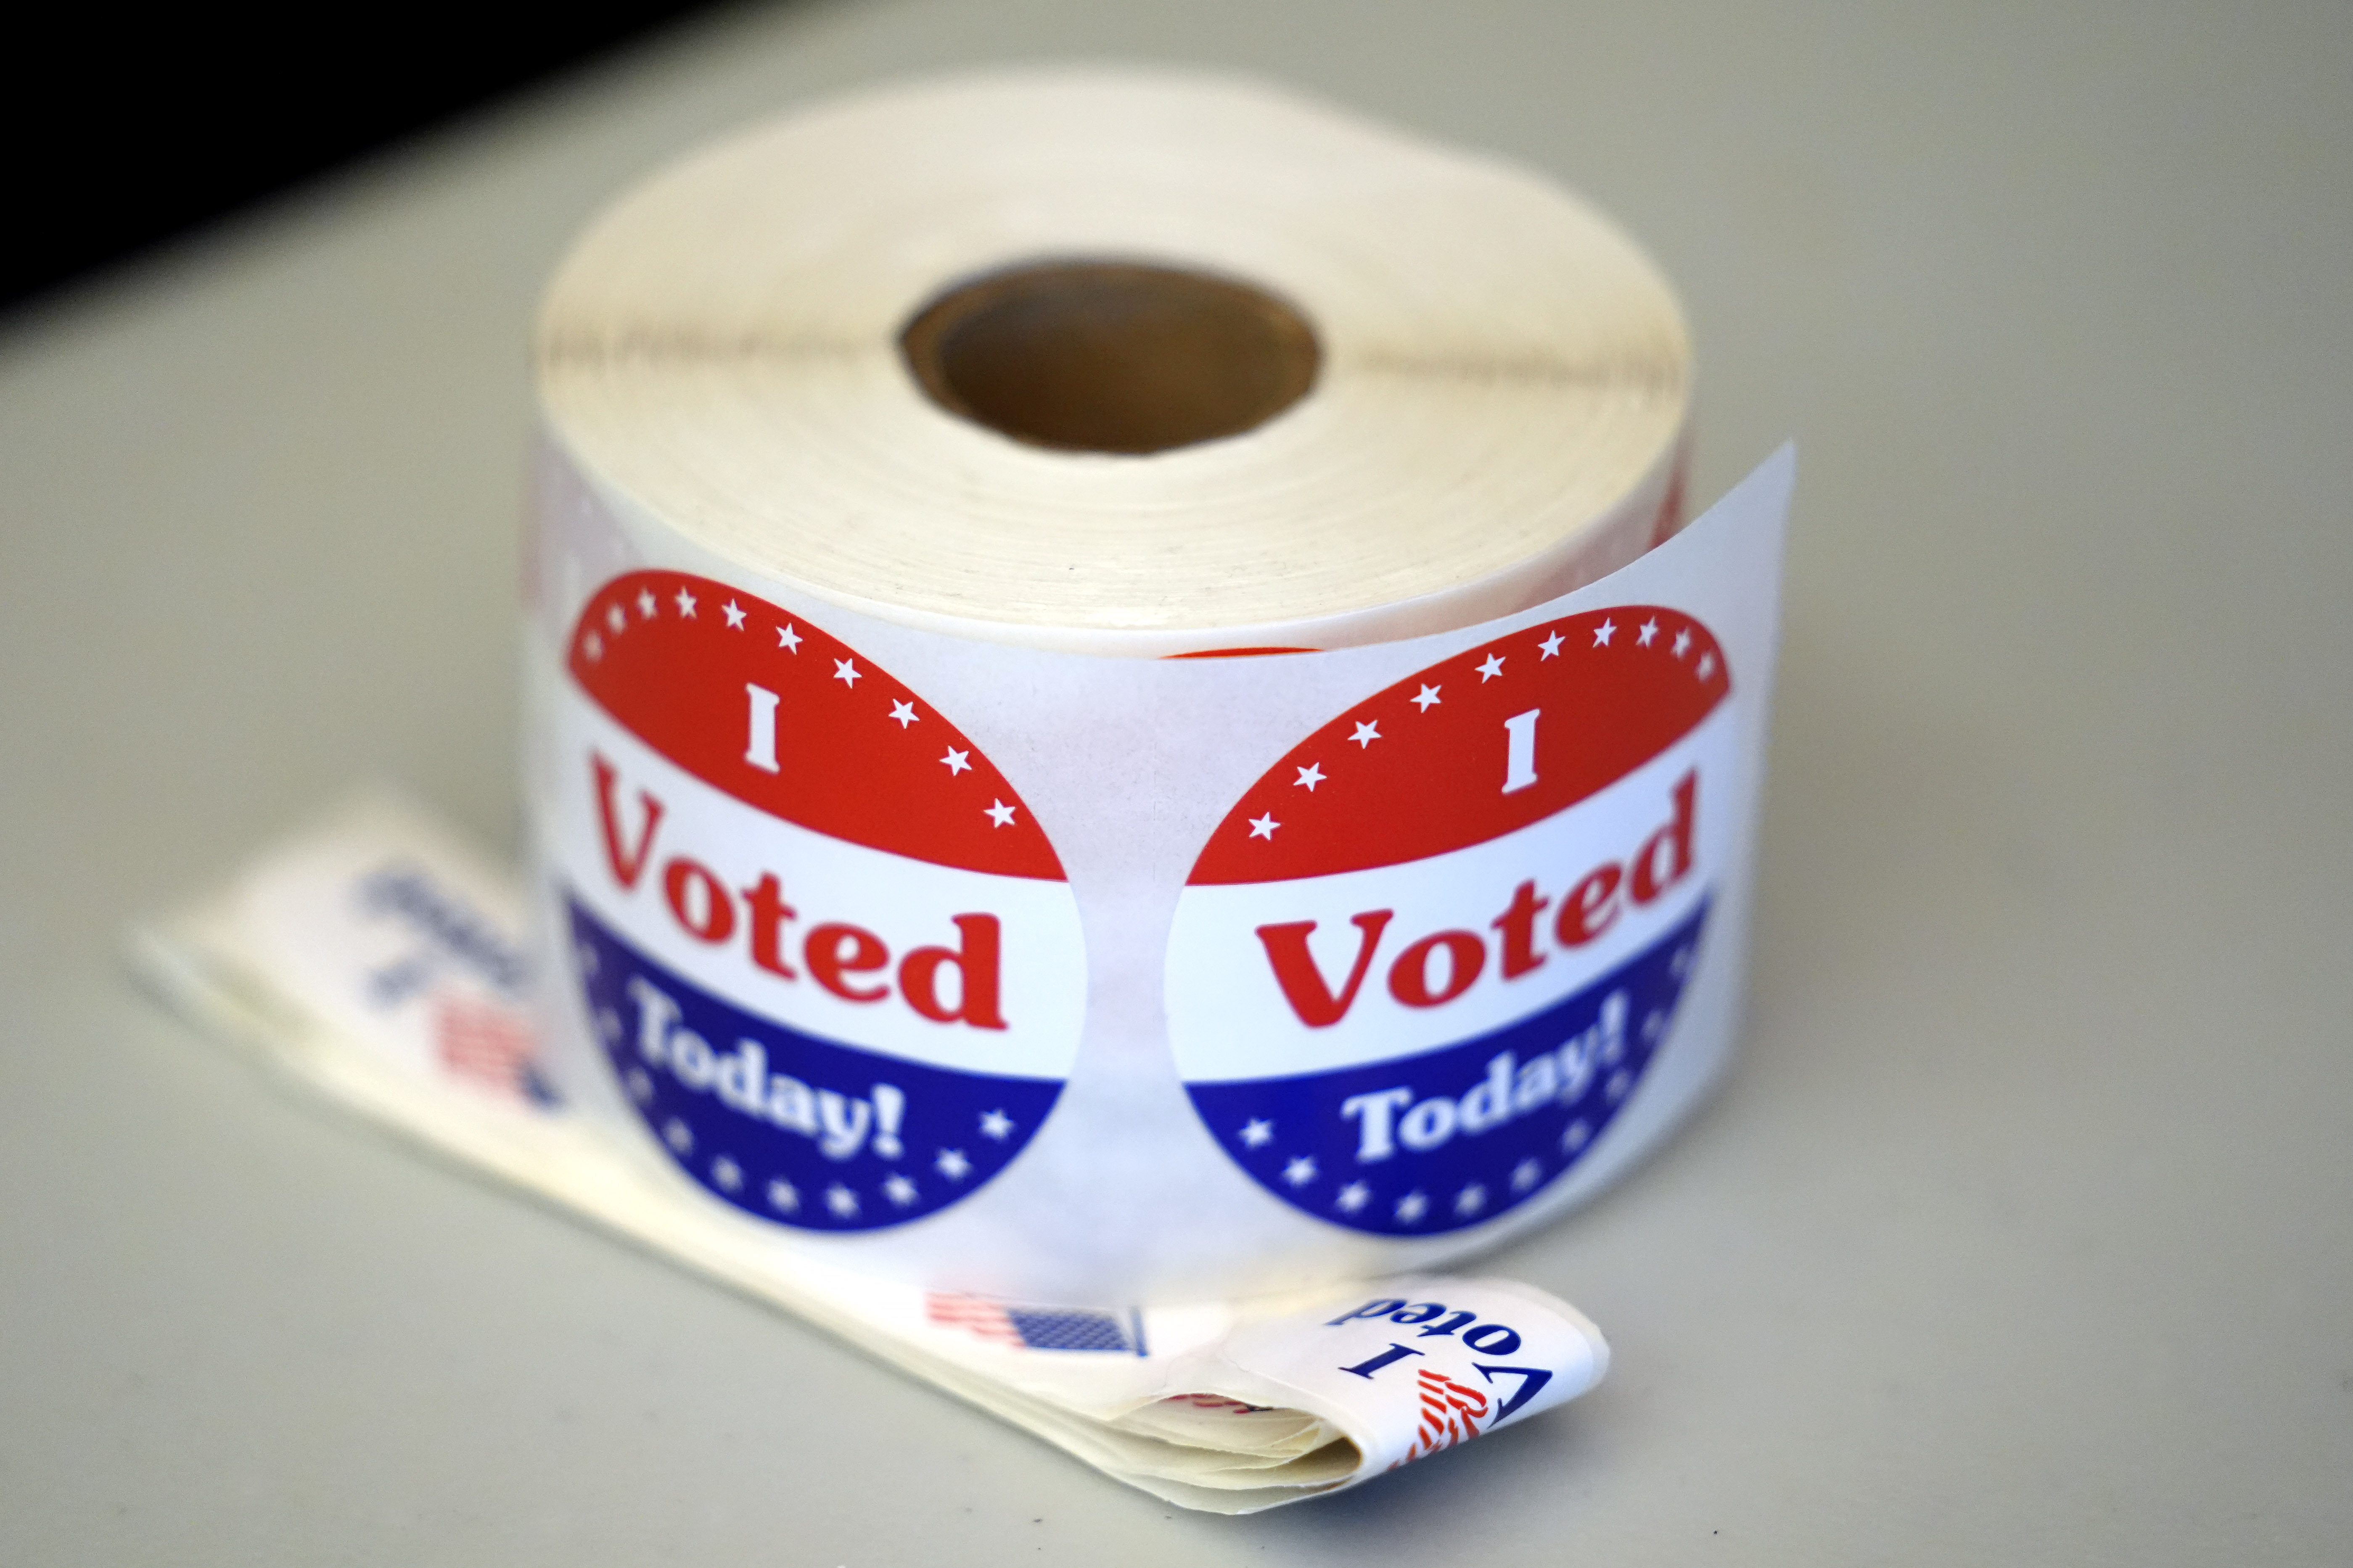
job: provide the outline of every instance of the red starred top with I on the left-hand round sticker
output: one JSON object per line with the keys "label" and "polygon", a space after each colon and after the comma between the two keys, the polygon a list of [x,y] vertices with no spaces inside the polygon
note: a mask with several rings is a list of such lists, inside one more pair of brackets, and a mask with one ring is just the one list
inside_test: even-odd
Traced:
{"label": "red starred top with I on the left-hand round sticker", "polygon": [[769,816],[932,865],[1064,879],[981,748],[889,672],[760,597],[631,571],[588,599],[567,668],[640,741]]}

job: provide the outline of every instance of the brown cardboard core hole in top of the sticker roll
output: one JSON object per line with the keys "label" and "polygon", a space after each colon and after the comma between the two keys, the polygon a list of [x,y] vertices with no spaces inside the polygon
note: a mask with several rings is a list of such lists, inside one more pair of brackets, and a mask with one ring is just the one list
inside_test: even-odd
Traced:
{"label": "brown cardboard core hole in top of the sticker roll", "polygon": [[899,334],[939,407],[1059,451],[1146,454],[1242,435],[1322,364],[1280,299],[1127,261],[1040,261],[948,289]]}

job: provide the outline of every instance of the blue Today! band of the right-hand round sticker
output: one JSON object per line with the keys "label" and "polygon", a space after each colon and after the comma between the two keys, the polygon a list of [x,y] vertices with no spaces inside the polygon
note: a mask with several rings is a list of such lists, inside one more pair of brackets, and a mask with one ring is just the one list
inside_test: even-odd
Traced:
{"label": "blue Today! band of the right-hand round sticker", "polygon": [[1475,1039],[1186,1093],[1233,1164],[1318,1220],[1379,1237],[1480,1225],[1560,1180],[1633,1095],[1706,917],[1701,900],[1593,985]]}

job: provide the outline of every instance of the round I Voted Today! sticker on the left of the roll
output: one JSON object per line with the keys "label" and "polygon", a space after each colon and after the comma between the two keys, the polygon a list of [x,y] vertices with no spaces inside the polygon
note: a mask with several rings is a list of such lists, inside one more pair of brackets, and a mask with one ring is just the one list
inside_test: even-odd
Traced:
{"label": "round I Voted Today! sticker on the left of the roll", "polygon": [[1078,905],[915,691],[774,604],[633,571],[574,623],[555,849],[614,1081],[713,1197],[824,1232],[976,1192],[1078,1053]]}

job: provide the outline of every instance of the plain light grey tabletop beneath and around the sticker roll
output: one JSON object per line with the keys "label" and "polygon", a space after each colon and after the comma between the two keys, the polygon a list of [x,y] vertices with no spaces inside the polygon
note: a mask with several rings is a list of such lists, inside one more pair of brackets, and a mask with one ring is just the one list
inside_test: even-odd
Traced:
{"label": "plain light grey tabletop beneath and around the sticker roll", "polygon": [[[1612,1380],[1261,1519],[275,1093],[118,959],[358,776],[513,842],[525,334],[602,195],[1040,56],[1560,174],[1687,294],[1701,491],[1802,442],[1744,1058],[1489,1260]],[[0,1559],[2346,1561],[2348,82],[2341,5],[812,2],[9,322]]]}

